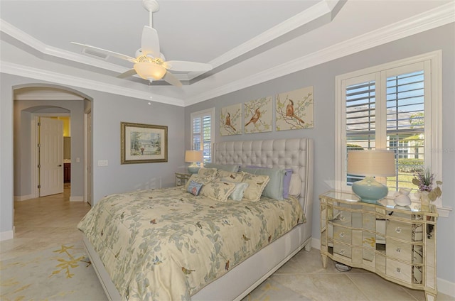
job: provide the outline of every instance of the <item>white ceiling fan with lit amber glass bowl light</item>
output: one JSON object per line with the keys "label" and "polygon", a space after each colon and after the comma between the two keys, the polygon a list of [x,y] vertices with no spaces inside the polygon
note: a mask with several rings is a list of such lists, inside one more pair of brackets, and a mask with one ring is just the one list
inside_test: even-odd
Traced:
{"label": "white ceiling fan with lit amber glass bowl light", "polygon": [[144,26],[142,30],[141,48],[136,52],[136,58],[121,53],[115,53],[110,50],[97,48],[95,46],[71,42],[75,45],[80,45],[85,50],[94,50],[96,53],[111,55],[116,58],[128,60],[134,63],[133,69],[118,75],[119,78],[139,75],[144,80],[152,82],[154,80],[165,80],[169,84],[181,87],[182,83],[173,75],[171,71],[177,72],[205,72],[212,70],[212,65],[202,62],[186,62],[182,60],[168,60],[160,53],[158,33],[152,27],[152,14],[159,11],[159,4],[156,0],[142,0],[142,5],[149,11],[149,26]]}

